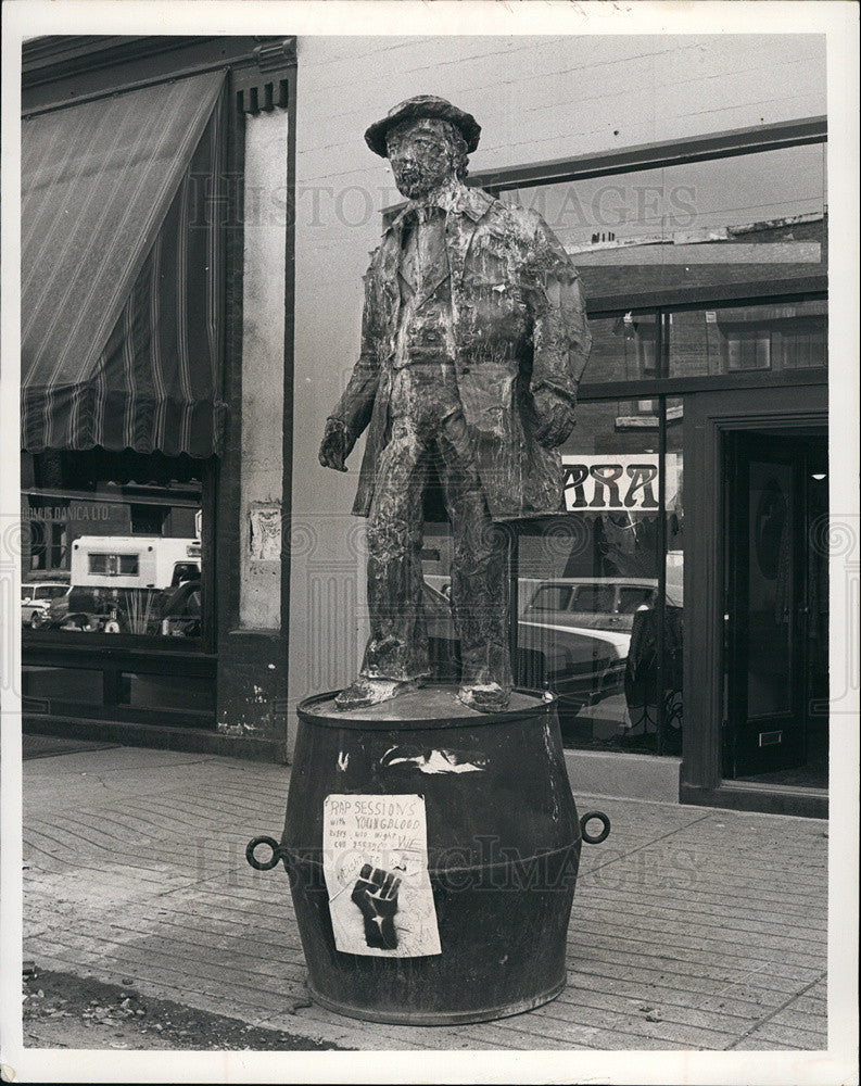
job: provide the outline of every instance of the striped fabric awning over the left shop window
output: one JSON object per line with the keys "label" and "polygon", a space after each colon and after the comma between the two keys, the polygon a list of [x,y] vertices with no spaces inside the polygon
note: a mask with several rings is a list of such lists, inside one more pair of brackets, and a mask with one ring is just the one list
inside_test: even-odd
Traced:
{"label": "striped fabric awning over the left shop window", "polygon": [[224,84],[24,119],[25,450],[218,452]]}

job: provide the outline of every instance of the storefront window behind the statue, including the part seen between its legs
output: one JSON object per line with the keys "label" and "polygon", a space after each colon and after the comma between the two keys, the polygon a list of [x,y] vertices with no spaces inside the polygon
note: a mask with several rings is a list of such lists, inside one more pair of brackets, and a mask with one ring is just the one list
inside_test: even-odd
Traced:
{"label": "storefront window behind the statue, including the part seen between its legs", "polygon": [[[671,725],[676,737],[664,741],[657,696],[663,545],[673,551],[668,598],[672,594],[681,615],[681,401],[672,401],[670,412],[674,443],[662,462],[659,399],[581,403],[578,425],[560,450],[568,513],[516,525],[515,681],[557,694],[569,747],[680,749],[681,710]],[[426,523],[422,566],[434,673],[456,681],[451,539],[439,522]],[[635,630],[643,631],[644,655],[632,661]],[[676,647],[673,661],[681,667]]]}

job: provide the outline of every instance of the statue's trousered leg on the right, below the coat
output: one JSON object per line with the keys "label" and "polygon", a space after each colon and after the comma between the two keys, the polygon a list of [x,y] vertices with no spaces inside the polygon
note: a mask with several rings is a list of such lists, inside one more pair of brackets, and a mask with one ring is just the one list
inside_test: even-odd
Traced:
{"label": "statue's trousered leg on the right, below the coat", "polygon": [[452,599],[463,661],[460,698],[505,708],[511,691],[506,535],[491,519],[463,413],[443,424],[438,445],[452,521]]}

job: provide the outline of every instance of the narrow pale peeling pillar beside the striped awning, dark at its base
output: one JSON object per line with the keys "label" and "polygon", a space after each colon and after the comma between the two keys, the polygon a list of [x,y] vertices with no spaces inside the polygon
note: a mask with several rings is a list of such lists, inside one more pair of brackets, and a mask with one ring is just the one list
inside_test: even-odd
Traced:
{"label": "narrow pale peeling pillar beside the striped awning, dark at its base", "polygon": [[[281,628],[288,113],[249,115],[241,395],[221,462],[217,728],[227,750],[287,757]],[[241,403],[237,403],[241,399]],[[231,431],[233,432],[233,431]],[[238,447],[237,447],[238,446]]]}

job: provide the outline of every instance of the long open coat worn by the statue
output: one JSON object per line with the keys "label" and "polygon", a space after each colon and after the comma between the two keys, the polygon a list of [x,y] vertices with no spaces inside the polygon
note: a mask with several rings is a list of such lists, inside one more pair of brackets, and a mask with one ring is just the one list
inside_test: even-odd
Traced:
{"label": "long open coat worn by the statue", "polygon": [[[372,255],[362,353],[332,413],[353,438],[369,425],[353,506],[357,516],[368,515],[387,442],[406,214],[394,219]],[[560,513],[561,459],[534,438],[532,393],[546,387],[575,402],[591,345],[577,270],[537,213],[506,206],[481,189],[457,191],[446,213],[445,243],[457,384],[491,516]],[[428,285],[425,293],[436,286]]]}

